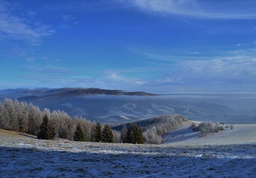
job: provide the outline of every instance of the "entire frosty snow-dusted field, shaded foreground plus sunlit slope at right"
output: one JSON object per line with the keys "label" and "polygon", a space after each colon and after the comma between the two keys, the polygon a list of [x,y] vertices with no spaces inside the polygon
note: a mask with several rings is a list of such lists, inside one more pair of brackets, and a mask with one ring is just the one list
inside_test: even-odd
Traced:
{"label": "entire frosty snow-dusted field, shaded foreground plus sunlit slope at right", "polygon": [[187,126],[166,135],[161,145],[38,140],[1,130],[0,177],[256,177],[255,124],[202,138]]}

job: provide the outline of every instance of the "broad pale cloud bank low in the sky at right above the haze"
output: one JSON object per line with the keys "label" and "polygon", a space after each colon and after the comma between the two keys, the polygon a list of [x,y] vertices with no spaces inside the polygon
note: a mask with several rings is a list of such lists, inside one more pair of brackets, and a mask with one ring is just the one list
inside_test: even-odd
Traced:
{"label": "broad pale cloud bank low in the sky at right above the haze", "polygon": [[[256,58],[240,55],[212,60],[181,61],[173,72],[152,84],[180,91],[255,91]],[[179,84],[179,85],[177,85]]]}

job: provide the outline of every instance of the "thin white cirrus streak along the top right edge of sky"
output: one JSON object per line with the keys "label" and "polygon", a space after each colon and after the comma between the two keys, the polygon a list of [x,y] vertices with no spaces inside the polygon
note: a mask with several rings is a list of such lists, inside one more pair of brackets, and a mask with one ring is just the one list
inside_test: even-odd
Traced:
{"label": "thin white cirrus streak along the top right edge of sky", "polygon": [[134,0],[144,12],[204,19],[255,19],[255,1]]}

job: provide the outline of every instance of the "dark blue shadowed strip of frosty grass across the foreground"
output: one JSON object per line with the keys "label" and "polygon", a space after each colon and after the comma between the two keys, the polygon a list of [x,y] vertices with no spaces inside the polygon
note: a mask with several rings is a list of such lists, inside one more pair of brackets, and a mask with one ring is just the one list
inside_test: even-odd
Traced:
{"label": "dark blue shadowed strip of frosty grass across the foreground", "polygon": [[101,153],[0,147],[0,177],[253,178],[256,175],[254,145],[167,147],[153,150],[152,154],[147,149],[127,151],[117,154],[114,150]]}

